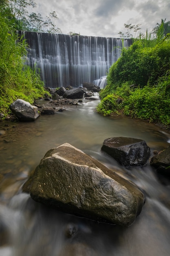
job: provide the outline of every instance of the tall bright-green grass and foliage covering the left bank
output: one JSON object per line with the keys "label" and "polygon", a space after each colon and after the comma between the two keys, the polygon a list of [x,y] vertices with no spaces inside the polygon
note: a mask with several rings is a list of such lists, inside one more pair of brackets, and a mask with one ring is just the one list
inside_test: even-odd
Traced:
{"label": "tall bright-green grass and foliage covering the left bank", "polygon": [[45,93],[44,83],[35,70],[24,65],[26,41],[0,17],[0,112],[7,114],[16,99],[33,103]]}

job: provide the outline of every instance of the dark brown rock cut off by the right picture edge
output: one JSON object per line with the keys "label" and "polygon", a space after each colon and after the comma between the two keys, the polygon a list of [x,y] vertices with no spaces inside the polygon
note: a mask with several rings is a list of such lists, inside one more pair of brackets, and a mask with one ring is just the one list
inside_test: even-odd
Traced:
{"label": "dark brown rock cut off by the right picture edge", "polygon": [[170,146],[150,158],[150,165],[163,175],[170,176]]}

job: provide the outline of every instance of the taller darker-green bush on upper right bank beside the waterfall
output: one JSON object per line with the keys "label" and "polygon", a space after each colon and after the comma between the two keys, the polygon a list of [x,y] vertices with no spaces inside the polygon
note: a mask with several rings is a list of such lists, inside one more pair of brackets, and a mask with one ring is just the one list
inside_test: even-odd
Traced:
{"label": "taller darker-green bush on upper right bank beside the waterfall", "polygon": [[143,47],[141,40],[124,48],[121,58],[109,70],[107,83],[117,87],[121,83],[137,84],[141,87],[154,84],[170,69],[170,40],[161,41],[155,47]]}

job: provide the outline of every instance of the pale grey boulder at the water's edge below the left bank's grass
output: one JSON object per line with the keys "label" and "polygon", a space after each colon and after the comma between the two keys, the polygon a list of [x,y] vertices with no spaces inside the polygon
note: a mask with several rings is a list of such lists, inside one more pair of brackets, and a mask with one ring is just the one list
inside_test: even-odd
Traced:
{"label": "pale grey boulder at the water's edge below the left bank's grass", "polygon": [[9,108],[20,121],[35,121],[40,116],[36,106],[22,99],[14,101]]}

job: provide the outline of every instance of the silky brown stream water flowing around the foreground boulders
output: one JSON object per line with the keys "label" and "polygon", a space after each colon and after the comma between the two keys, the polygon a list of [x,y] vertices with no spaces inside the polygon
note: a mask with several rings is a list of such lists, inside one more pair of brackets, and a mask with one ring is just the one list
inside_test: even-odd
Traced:
{"label": "silky brown stream water flowing around the foreground boulders", "polygon": [[[101,152],[104,139],[135,137],[151,149],[170,133],[128,117],[102,117],[86,101],[35,122],[0,123],[0,256],[169,256],[170,185],[149,164],[124,168]],[[34,202],[22,186],[47,150],[65,142],[83,150],[146,195],[130,227],[97,223]]]}

